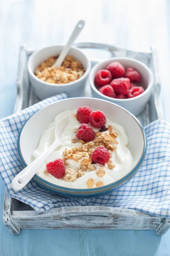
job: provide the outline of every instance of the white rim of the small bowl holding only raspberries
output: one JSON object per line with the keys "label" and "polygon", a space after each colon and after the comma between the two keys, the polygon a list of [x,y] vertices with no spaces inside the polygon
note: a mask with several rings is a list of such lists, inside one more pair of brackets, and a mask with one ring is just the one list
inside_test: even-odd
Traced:
{"label": "white rim of the small bowl holding only raspberries", "polygon": [[134,59],[134,58],[128,58],[128,57],[113,57],[113,58],[109,58],[109,59],[107,59],[107,60],[104,60],[104,61],[101,61],[101,62],[97,63],[96,65],[94,65],[94,67],[92,67],[91,72],[90,72],[90,75],[89,75],[89,80],[90,80],[91,86],[94,88],[94,90],[96,91],[96,93],[98,93],[99,95],[102,95],[102,97],[105,98],[106,100],[110,100],[111,97],[108,97],[108,96],[106,96],[106,95],[100,93],[99,90],[97,90],[97,88],[96,88],[96,86],[95,86],[95,84],[94,84],[94,81],[92,80],[92,75],[93,75],[93,73],[94,73],[93,71],[94,71],[94,69],[95,69],[96,67],[98,67],[100,64],[103,64],[103,63],[108,62],[108,61],[119,61],[119,60],[121,60],[121,59],[122,59],[122,60],[130,60],[130,61],[133,61],[133,62],[136,62],[136,63],[140,64],[140,65],[141,65],[142,67],[144,67],[144,68],[147,70],[147,72],[150,74],[150,83],[148,84],[146,90],[144,90],[144,92],[141,93],[140,95],[138,95],[138,96],[136,96],[136,97],[133,97],[133,98],[130,98],[130,99],[116,99],[116,98],[113,98],[114,101],[117,101],[117,102],[120,102],[120,101],[126,101],[126,102],[127,102],[127,101],[133,101],[133,99],[137,99],[137,98],[139,98],[139,97],[144,96],[144,95],[147,93],[147,91],[150,90],[150,87],[153,86],[153,74],[152,74],[150,68],[147,67],[147,65],[145,65],[145,64],[142,63],[141,61],[138,61],[138,60],[136,60],[136,59]]}

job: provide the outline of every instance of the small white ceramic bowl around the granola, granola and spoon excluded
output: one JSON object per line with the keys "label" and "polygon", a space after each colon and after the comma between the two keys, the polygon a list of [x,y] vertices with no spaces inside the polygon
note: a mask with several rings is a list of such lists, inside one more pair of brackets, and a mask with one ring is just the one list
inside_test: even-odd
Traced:
{"label": "small white ceramic bowl around the granola, granola and spoon excluded", "polygon": [[46,99],[61,92],[67,93],[68,97],[77,97],[81,96],[85,89],[85,82],[91,69],[91,62],[77,47],[71,47],[68,55],[73,55],[85,68],[85,74],[81,78],[67,84],[51,84],[38,79],[37,76],[34,75],[34,70],[42,63],[42,61],[45,61],[45,59],[54,55],[59,55],[62,48],[62,45],[46,47],[34,52],[28,59],[29,79],[34,92],[40,99]]}

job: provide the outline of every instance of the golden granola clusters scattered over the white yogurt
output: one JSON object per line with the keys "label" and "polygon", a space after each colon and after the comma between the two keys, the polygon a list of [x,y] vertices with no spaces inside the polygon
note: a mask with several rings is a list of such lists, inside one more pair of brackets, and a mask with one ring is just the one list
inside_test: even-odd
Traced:
{"label": "golden granola clusters scattered over the white yogurt", "polygon": [[[96,132],[96,137],[94,141],[85,143],[83,140],[77,140],[76,137],[73,137],[71,142],[77,143],[80,142],[82,145],[79,147],[72,147],[71,149],[65,148],[63,151],[63,161],[65,163],[65,166],[69,165],[69,160],[74,160],[76,162],[79,162],[79,169],[74,170],[73,168],[67,168],[65,171],[65,176],[63,177],[63,180],[66,181],[75,181],[77,178],[82,177],[85,173],[85,171],[95,171],[96,175],[98,177],[104,177],[105,176],[105,168],[104,166],[100,166],[99,169],[96,170],[96,167],[94,166],[94,163],[91,161],[91,155],[93,154],[93,151],[96,147],[99,145],[104,145],[105,148],[108,149],[110,155],[112,156],[112,152],[117,148],[117,140],[116,137],[118,134],[113,132],[113,127],[109,125],[108,127],[109,133],[102,133],[100,131]],[[77,132],[77,129],[74,129],[74,133]],[[115,164],[109,160],[107,163],[109,169],[115,168]],[[86,185],[87,188],[92,188],[94,186],[94,179],[89,178]],[[104,186],[103,181],[99,181],[96,183],[96,187]]]}

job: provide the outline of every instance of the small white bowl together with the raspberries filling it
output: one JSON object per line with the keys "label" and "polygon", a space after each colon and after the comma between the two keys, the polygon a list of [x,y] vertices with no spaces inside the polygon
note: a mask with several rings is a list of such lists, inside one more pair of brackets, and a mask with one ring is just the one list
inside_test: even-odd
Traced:
{"label": "small white bowl together with the raspberries filling it", "polygon": [[89,75],[92,96],[138,115],[150,98],[153,74],[141,61],[119,57],[96,64]]}

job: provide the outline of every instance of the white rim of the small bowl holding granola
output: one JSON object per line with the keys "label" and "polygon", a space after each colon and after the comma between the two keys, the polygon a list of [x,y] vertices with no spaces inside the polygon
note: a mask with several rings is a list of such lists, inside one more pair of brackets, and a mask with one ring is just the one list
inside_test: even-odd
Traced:
{"label": "white rim of the small bowl holding granola", "polygon": [[29,71],[29,73],[31,74],[31,76],[34,77],[34,79],[36,79],[37,81],[40,81],[42,84],[46,84],[46,85],[48,84],[48,85],[51,86],[51,87],[58,87],[58,86],[61,86],[61,85],[62,85],[62,87],[65,87],[65,86],[68,86],[68,85],[72,85],[72,84],[76,83],[77,81],[81,81],[82,79],[84,79],[85,77],[88,76],[88,73],[89,73],[89,71],[90,71],[90,69],[91,69],[91,62],[90,62],[90,60],[88,59],[88,57],[84,54],[84,52],[82,52],[82,51],[81,51],[78,47],[76,47],[76,46],[72,46],[71,48],[72,48],[72,49],[76,49],[76,50],[78,50],[79,52],[81,52],[81,53],[85,56],[85,58],[86,58],[86,60],[87,60],[87,63],[88,63],[87,69],[85,70],[84,75],[81,76],[79,79],[77,79],[77,80],[75,80],[75,81],[72,81],[72,82],[70,82],[70,83],[66,83],[66,84],[51,84],[51,83],[42,81],[41,79],[37,78],[37,76],[35,76],[35,74],[34,74],[33,70],[31,69],[30,65],[31,65],[32,58],[34,58],[34,56],[37,54],[37,52],[40,52],[41,50],[46,49],[46,48],[50,48],[50,47],[63,47],[63,46],[64,46],[64,45],[62,45],[62,44],[56,44],[56,45],[51,45],[51,46],[48,46],[48,47],[41,48],[41,49],[39,49],[39,50],[33,52],[33,54],[32,54],[32,55],[30,56],[30,58],[28,59],[28,71]]}

